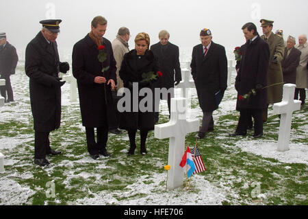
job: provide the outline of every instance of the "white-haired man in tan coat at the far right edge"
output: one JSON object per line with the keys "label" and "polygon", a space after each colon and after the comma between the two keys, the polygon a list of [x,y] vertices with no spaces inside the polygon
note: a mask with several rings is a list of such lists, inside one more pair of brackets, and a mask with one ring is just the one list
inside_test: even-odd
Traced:
{"label": "white-haired man in tan coat at the far right edge", "polygon": [[307,35],[303,34],[298,36],[298,45],[296,49],[302,52],[300,55],[300,64],[296,69],[296,89],[295,89],[295,99],[298,100],[298,93],[300,94],[300,101],[302,106],[305,104],[306,91],[307,88],[307,60],[308,60],[308,47],[307,47]]}

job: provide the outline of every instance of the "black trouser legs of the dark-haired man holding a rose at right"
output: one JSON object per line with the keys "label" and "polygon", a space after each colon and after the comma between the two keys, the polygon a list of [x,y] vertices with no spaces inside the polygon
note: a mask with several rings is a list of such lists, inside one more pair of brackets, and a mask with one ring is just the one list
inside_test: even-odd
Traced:
{"label": "black trouser legs of the dark-haired man holding a rose at right", "polygon": [[236,132],[247,132],[251,116],[253,117],[253,120],[255,122],[255,135],[263,133],[263,110],[255,108],[240,110],[240,118],[238,119],[238,127],[236,128]]}

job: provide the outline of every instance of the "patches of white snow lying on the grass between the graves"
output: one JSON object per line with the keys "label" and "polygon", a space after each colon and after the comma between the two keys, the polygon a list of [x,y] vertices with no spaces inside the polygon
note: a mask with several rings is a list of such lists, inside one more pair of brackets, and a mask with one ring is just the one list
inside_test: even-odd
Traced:
{"label": "patches of white snow lying on the grass between the graves", "polygon": [[[18,63],[19,66],[23,65],[23,62]],[[234,81],[233,73],[233,81]],[[11,104],[5,104],[4,107],[0,108],[0,121],[7,122],[12,119],[20,121],[22,123],[31,123],[31,108],[29,104],[29,78],[25,75],[23,70],[19,70],[15,75],[11,77],[12,87],[14,90],[14,98],[16,100],[15,106]],[[69,84],[65,84],[62,87],[62,105],[63,106],[79,106],[79,102],[71,103],[69,100]],[[28,95],[25,95],[27,93]],[[175,90],[175,95],[179,96],[179,89]],[[214,112],[214,119],[222,115],[229,115],[235,112],[235,97],[236,91],[233,86],[229,87],[225,93],[223,102],[220,104],[220,109]],[[190,97],[196,98],[195,89],[190,89]],[[229,97],[229,98],[227,98]],[[70,110],[72,107],[67,107]],[[168,115],[168,106],[166,101],[161,102],[162,115]],[[10,113],[14,111],[15,113]],[[68,112],[69,113],[69,112]],[[202,119],[202,111],[200,108],[188,108],[188,117]],[[235,121],[234,124],[237,122]],[[80,124],[80,128],[83,128]],[[18,130],[8,130],[10,132],[18,132]],[[307,137],[308,127],[304,127],[305,136]],[[278,130],[277,130],[278,132]],[[227,134],[225,134],[227,135]],[[292,135],[292,137],[296,135]],[[291,137],[291,139],[292,139]],[[224,139],[224,135],[219,138]],[[128,140],[128,137],[123,137],[123,140]],[[17,135],[16,137],[5,137],[0,139],[0,152],[6,149],[15,148],[21,146],[23,142],[34,141],[34,135]],[[277,142],[260,139],[253,141],[251,138],[246,137],[241,141],[238,141],[236,147],[240,148],[244,152],[251,152],[261,157],[277,159],[284,163],[308,163],[308,148],[307,144],[304,143],[291,143],[290,150],[287,152],[277,151]],[[126,152],[126,151],[125,151]],[[91,162],[90,158],[81,158],[77,162]],[[18,161],[11,159],[5,159],[5,165],[14,165]],[[103,161],[102,161],[103,162]],[[66,167],[74,166],[70,161],[62,161],[59,165],[65,165]],[[99,168],[105,168],[104,162],[99,165]],[[68,172],[70,168],[68,168]],[[81,172],[79,176],[88,178],[93,176],[87,172]],[[0,174],[0,200],[5,205],[21,205],[26,200],[35,194],[35,191],[29,189],[29,187],[22,187],[16,181],[14,177],[18,178],[31,178],[31,173],[25,173],[16,176],[15,173],[9,176],[1,176]],[[96,176],[95,177],[99,177]],[[151,183],[144,183],[145,178],[149,181],[149,176],[142,176],[136,183],[129,185],[123,189],[124,191],[114,192],[100,192],[98,194],[92,194],[92,198],[82,198],[76,200],[74,203],[68,203],[72,205],[221,205],[222,200],[225,200],[225,196],[237,196],[237,194],[226,194],[225,187],[216,187],[211,185],[209,181],[205,180],[204,176],[196,175],[192,179],[192,187],[196,190],[194,193],[185,192],[185,189],[178,188],[173,191],[164,192],[164,186],[159,183],[162,182],[162,178],[165,178],[166,174],[153,174],[150,177]],[[41,189],[41,188],[36,188]],[[179,195],[179,190],[181,194]],[[184,192],[183,192],[184,191]],[[232,193],[231,189],[229,192]],[[133,200],[129,197],[136,195],[137,198]],[[114,198],[117,197],[117,198]],[[29,200],[31,203],[31,200]]]}

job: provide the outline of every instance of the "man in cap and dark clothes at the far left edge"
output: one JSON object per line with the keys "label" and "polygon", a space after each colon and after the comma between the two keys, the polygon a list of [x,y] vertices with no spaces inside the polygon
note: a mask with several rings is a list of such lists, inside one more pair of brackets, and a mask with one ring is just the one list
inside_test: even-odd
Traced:
{"label": "man in cap and dark clothes at the far left edge", "polygon": [[[5,80],[5,86],[1,86],[0,91],[5,102],[14,101],[10,76],[15,73],[17,62],[15,47],[6,41],[5,33],[0,33],[0,79]],[[6,98],[6,93],[8,93],[8,98]]]}

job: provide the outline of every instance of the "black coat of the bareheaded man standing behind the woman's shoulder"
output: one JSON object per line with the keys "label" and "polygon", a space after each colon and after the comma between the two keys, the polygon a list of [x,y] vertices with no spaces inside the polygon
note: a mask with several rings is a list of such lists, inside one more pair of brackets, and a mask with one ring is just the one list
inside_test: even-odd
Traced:
{"label": "black coat of the bareheaded man standing behind the woman's shoulder", "polygon": [[179,47],[168,42],[166,51],[162,51],[162,43],[156,43],[151,46],[154,56],[159,63],[159,71],[162,71],[162,77],[157,80],[157,87],[170,89],[175,87],[175,81],[181,81],[181,67],[179,63]]}

